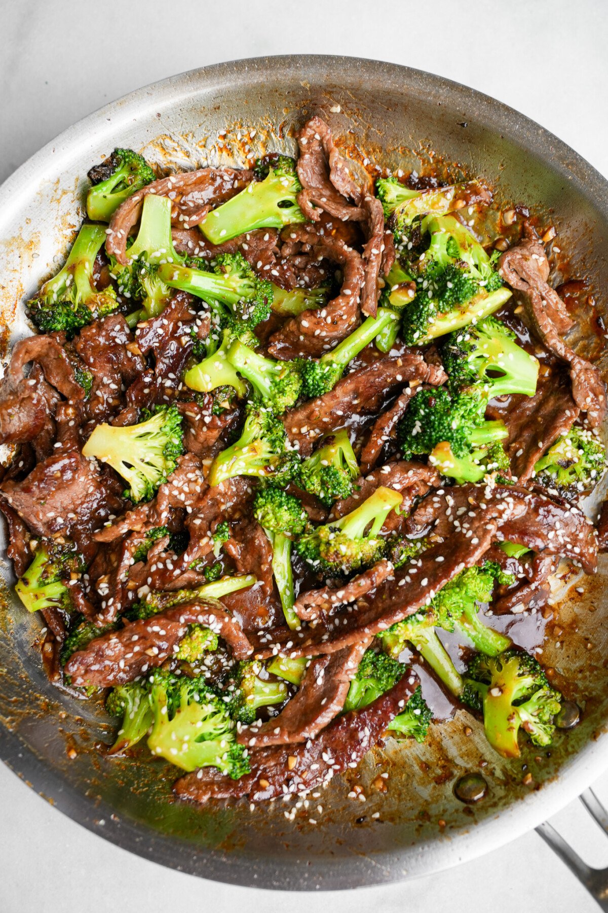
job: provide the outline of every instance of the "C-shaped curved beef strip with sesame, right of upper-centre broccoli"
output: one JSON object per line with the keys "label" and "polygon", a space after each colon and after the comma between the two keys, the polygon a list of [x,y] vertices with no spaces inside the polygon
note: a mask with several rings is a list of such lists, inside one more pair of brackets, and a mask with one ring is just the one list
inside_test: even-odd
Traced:
{"label": "C-shaped curved beef strip with sesame, right of upper-centre broccoli", "polygon": [[352,247],[334,237],[322,236],[311,226],[287,226],[292,240],[319,260],[338,264],[343,271],[340,294],[318,310],[304,310],[287,320],[274,333],[268,351],[276,358],[318,357],[355,330],[359,316],[359,294],[364,280],[364,265]]}

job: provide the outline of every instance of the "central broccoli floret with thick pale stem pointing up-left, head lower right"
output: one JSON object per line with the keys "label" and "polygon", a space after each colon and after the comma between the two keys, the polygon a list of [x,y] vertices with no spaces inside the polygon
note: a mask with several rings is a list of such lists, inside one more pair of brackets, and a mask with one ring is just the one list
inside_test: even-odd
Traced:
{"label": "central broccoli floret with thick pale stem pointing up-left, head lower right", "polygon": [[294,405],[302,390],[300,362],[275,362],[253,352],[242,341],[234,341],[228,361],[252,384],[255,397],[273,412],[282,413]]}

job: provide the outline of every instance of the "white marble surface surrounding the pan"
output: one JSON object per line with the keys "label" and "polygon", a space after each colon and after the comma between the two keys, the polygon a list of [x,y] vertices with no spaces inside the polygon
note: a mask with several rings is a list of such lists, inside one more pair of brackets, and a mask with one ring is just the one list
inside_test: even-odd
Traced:
{"label": "white marble surface surrounding the pan", "polygon": [[[349,54],[432,70],[524,112],[608,174],[605,0],[433,0],[421,15],[425,7],[350,0],[346,11],[341,0],[307,0],[312,15],[301,22],[286,0],[181,0],[169,5],[169,17],[159,0],[0,0],[0,180],[58,132],[130,89],[226,59],[285,53]],[[608,799],[608,775],[599,791]],[[608,864],[608,841],[580,803],[553,823],[592,865]],[[205,883],[89,834],[0,767],[0,913],[245,905],[257,913],[277,903],[293,913],[317,913],[327,904],[335,913],[597,909],[536,834],[447,873],[356,897],[270,897]]]}

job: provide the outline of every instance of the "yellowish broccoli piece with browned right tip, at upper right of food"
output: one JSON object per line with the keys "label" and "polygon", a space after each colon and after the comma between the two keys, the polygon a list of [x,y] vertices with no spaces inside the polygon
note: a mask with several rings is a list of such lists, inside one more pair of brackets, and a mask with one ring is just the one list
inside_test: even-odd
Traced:
{"label": "yellowish broccoli piece with browned right tip, at upper right of food", "polygon": [[422,215],[446,215],[459,209],[470,191],[479,187],[477,181],[453,184],[428,190],[412,190],[392,175],[378,178],[376,194],[382,201],[386,218],[393,216],[397,232],[402,232]]}

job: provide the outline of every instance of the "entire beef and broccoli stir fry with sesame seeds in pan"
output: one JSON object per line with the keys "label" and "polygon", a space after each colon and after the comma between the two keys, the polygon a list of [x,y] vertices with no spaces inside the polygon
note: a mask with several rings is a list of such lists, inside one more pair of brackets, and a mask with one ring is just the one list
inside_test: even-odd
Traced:
{"label": "entire beef and broccoli stir fry with sesame seeds in pan", "polygon": [[606,391],[541,227],[498,234],[479,180],[366,183],[318,117],[297,141],[251,171],[92,168],[0,390],[48,677],[200,803],[424,741],[423,667],[504,757],[550,745],[562,695],[492,617],[608,540],[581,507]]}

